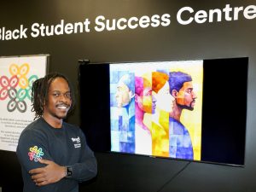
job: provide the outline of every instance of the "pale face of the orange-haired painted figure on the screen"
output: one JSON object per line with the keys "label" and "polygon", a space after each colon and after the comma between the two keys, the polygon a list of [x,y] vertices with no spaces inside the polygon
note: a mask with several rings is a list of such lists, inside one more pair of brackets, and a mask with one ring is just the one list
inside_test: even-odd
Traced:
{"label": "pale face of the orange-haired painted figure on the screen", "polygon": [[170,94],[170,86],[168,81],[166,81],[164,86],[157,93],[154,93],[154,95],[156,98],[157,108],[160,108],[168,113],[172,112],[175,98]]}

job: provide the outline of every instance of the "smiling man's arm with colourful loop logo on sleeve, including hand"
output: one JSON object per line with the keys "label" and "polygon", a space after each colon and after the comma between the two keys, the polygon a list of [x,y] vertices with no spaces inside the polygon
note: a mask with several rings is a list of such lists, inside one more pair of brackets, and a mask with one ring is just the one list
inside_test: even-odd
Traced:
{"label": "smiling man's arm with colourful loop logo on sleeve, including hand", "polygon": [[[16,151],[20,166],[24,169],[23,180],[31,188],[33,184],[40,187],[40,191],[54,191],[56,183],[65,176],[65,167],[53,162],[47,139],[40,131],[26,131],[20,136]],[[44,160],[42,160],[44,158]],[[55,173],[55,174],[53,174]],[[37,188],[34,188],[37,189]]]}

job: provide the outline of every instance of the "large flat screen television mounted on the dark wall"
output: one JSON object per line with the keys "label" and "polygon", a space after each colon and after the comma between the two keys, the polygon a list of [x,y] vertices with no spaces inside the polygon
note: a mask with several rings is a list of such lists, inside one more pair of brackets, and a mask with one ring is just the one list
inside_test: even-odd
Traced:
{"label": "large flat screen television mounted on the dark wall", "polygon": [[244,166],[248,58],[80,63],[96,152]]}

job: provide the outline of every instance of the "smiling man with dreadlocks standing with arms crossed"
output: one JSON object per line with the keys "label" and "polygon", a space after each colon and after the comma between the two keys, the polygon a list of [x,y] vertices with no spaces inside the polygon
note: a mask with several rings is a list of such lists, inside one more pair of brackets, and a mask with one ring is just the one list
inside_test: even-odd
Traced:
{"label": "smiling man with dreadlocks standing with arms crossed", "polygon": [[24,192],[78,192],[79,182],[96,177],[96,158],[79,127],[63,121],[73,109],[67,78],[50,73],[32,84],[36,119],[20,134],[17,156]]}

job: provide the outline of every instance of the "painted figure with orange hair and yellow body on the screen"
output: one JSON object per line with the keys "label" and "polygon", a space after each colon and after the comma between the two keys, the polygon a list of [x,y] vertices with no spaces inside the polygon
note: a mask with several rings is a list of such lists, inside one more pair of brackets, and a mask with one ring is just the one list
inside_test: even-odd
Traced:
{"label": "painted figure with orange hair and yellow body on the screen", "polygon": [[152,155],[168,157],[169,112],[172,110],[174,100],[170,94],[169,77],[166,73],[152,72],[150,78],[152,82],[152,110],[151,113],[143,114],[143,125],[148,127],[151,133]]}

